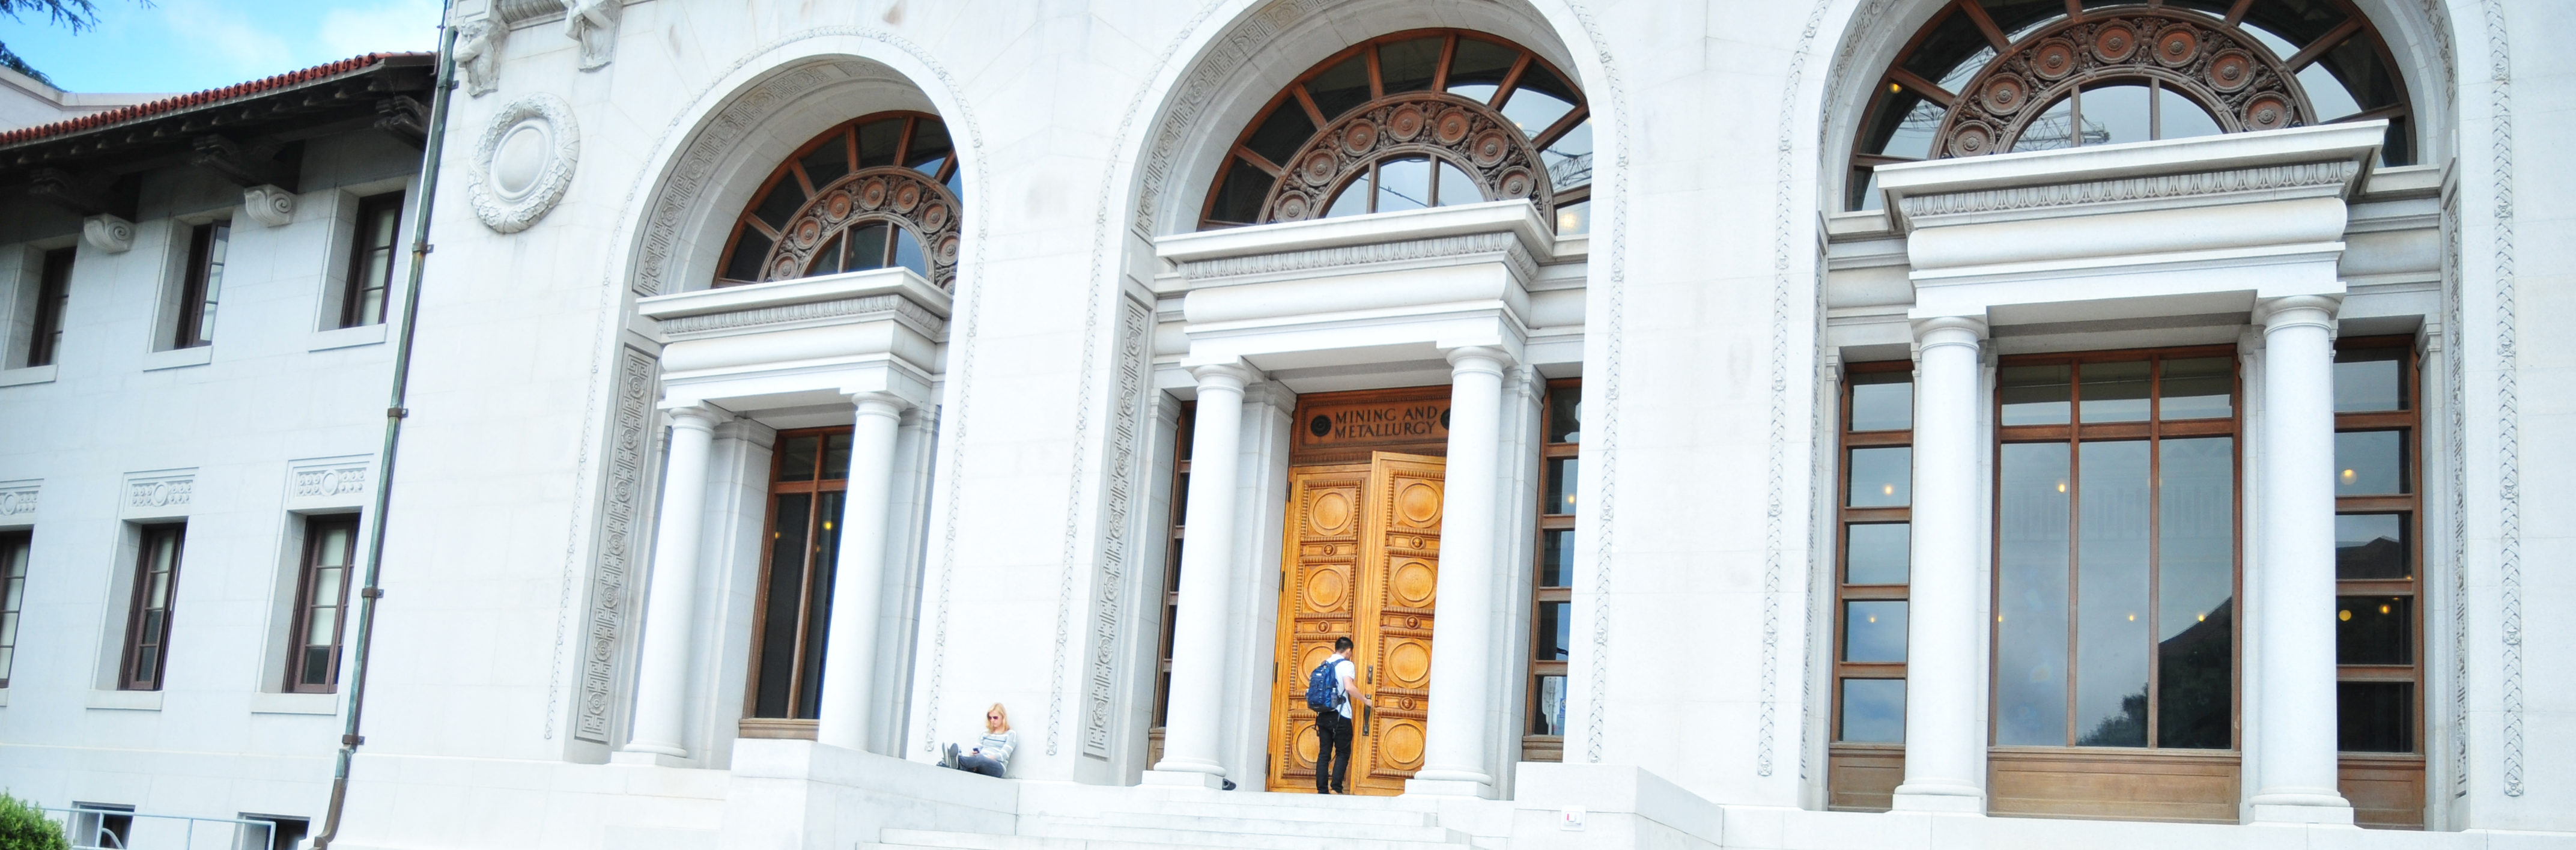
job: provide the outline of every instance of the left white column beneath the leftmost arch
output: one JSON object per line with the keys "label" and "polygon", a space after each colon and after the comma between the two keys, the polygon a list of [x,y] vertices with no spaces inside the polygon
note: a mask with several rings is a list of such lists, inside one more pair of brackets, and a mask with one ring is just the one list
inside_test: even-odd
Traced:
{"label": "left white column beneath the leftmost arch", "polygon": [[688,631],[698,618],[698,538],[706,525],[706,446],[719,415],[703,404],[670,410],[670,471],[654,528],[652,585],[644,598],[644,649],[636,665],[636,726],[626,752],[688,757]]}

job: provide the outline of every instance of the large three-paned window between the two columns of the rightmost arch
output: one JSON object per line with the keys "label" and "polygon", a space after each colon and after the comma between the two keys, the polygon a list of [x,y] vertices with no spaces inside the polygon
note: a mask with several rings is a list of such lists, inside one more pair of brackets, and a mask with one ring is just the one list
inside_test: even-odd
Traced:
{"label": "large three-paned window between the two columns of the rightmost arch", "polygon": [[2007,358],[1994,744],[2233,750],[2236,355]]}

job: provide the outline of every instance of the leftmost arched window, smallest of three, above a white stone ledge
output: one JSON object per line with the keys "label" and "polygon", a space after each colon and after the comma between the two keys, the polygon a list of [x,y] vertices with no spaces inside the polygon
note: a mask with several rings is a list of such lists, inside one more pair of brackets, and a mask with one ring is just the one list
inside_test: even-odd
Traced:
{"label": "leftmost arched window, smallest of three, above a white stone ledge", "polygon": [[716,286],[902,265],[951,288],[958,162],[948,126],[873,113],[814,137],[742,209]]}

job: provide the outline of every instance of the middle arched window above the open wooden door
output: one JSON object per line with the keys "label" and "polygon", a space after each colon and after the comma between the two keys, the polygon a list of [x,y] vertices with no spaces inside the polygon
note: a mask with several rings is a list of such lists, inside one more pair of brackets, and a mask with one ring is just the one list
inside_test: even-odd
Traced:
{"label": "middle arched window above the open wooden door", "polygon": [[1592,111],[1538,54],[1486,33],[1378,36],[1288,82],[1234,142],[1200,229],[1530,198],[1592,224]]}

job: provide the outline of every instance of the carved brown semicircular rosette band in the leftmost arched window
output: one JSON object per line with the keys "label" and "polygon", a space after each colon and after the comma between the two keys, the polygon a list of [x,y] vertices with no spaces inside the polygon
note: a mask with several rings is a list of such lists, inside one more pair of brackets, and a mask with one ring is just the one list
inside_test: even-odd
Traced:
{"label": "carved brown semicircular rosette band in the leftmost arched window", "polygon": [[958,198],[948,185],[933,183],[899,165],[858,170],[848,178],[814,188],[814,198],[778,229],[778,245],[760,263],[762,281],[804,278],[814,263],[814,250],[832,237],[863,224],[894,224],[922,240],[922,258],[930,263],[930,283],[943,291],[956,288],[958,276]]}

